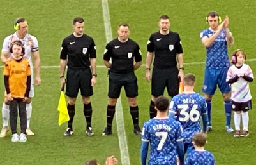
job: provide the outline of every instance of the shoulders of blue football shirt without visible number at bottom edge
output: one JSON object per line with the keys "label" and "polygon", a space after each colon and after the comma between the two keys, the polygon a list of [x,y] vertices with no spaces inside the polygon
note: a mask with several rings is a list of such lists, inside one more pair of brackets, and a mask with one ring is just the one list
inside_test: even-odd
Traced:
{"label": "shoulders of blue football shirt without visible number at bottom edge", "polygon": [[192,150],[186,155],[185,165],[215,165],[215,157],[207,150]]}

